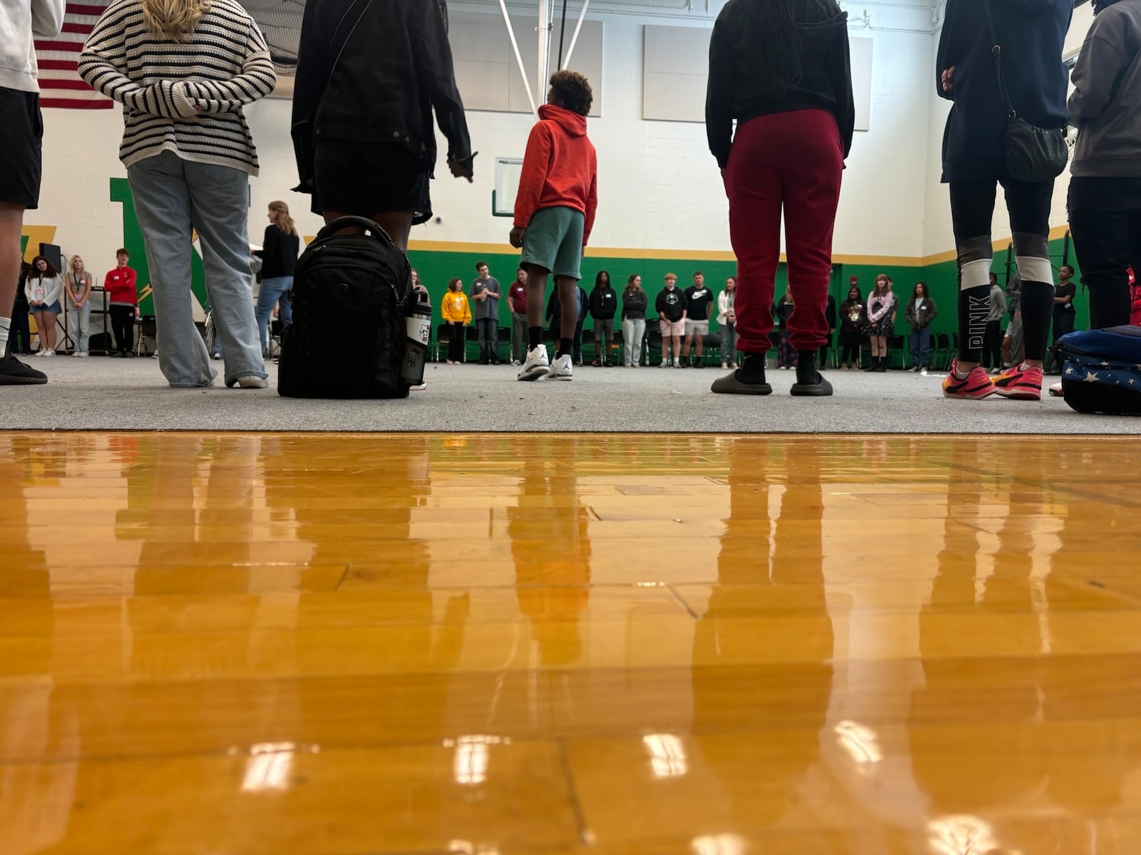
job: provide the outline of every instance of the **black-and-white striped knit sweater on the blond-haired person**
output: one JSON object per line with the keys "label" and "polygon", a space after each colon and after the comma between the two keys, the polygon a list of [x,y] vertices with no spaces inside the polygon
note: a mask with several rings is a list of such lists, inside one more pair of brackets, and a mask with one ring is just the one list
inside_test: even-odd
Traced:
{"label": "black-and-white striped knit sweater on the blond-haired person", "polygon": [[79,73],[123,105],[124,165],[168,150],[258,174],[242,107],[269,95],[277,78],[257,24],[235,0],[211,0],[186,43],[152,35],[139,0],[114,0],[83,46]]}

